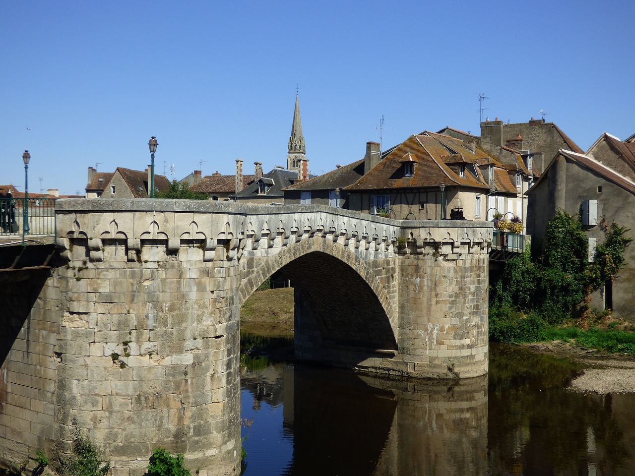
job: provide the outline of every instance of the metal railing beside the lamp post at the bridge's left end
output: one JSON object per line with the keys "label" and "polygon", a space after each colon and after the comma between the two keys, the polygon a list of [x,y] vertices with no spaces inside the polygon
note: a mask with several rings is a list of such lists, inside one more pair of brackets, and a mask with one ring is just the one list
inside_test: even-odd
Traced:
{"label": "metal railing beside the lamp post at the bridge's left end", "polygon": [[55,200],[0,197],[0,238],[55,238]]}

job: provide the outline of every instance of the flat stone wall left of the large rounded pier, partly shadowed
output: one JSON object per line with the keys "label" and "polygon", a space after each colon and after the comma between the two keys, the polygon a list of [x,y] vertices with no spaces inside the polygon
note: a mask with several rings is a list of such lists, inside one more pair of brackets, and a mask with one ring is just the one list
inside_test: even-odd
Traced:
{"label": "flat stone wall left of the large rounded pier, partly shadowed", "polygon": [[[59,439],[55,342],[60,292],[48,270],[0,276],[0,467],[33,469],[28,456]],[[48,278],[48,280],[47,280]]]}

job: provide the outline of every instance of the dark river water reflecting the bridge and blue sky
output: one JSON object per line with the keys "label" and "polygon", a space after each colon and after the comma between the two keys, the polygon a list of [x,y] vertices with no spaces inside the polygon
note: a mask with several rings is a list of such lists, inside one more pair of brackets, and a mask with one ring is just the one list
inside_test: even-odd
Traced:
{"label": "dark river water reflecting the bridge and blue sky", "polygon": [[552,355],[491,345],[454,382],[243,361],[246,476],[635,474],[635,394],[568,390]]}

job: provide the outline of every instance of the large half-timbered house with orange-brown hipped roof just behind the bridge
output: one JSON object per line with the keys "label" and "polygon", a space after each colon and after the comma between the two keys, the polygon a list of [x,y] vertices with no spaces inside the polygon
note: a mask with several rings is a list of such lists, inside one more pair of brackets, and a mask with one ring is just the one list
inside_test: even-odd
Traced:
{"label": "large half-timbered house with orange-brown hipped roof just behind the bridge", "polygon": [[489,195],[502,197],[502,213],[518,200],[507,170],[472,139],[424,131],[370,166],[344,189],[351,209],[399,219],[486,220]]}

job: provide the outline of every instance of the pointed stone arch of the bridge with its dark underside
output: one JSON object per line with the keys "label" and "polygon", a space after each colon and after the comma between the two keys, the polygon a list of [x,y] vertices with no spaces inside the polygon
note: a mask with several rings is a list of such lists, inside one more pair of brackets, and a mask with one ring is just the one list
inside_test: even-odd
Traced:
{"label": "pointed stone arch of the bridge with its dark underside", "polygon": [[319,333],[326,345],[396,352],[398,313],[389,293],[396,290],[398,277],[391,258],[378,258],[383,265],[371,268],[351,249],[312,237],[284,246],[276,255],[243,255],[241,261],[240,305],[275,272],[291,279],[296,341],[298,329],[304,329]]}

